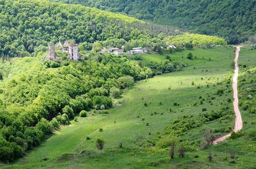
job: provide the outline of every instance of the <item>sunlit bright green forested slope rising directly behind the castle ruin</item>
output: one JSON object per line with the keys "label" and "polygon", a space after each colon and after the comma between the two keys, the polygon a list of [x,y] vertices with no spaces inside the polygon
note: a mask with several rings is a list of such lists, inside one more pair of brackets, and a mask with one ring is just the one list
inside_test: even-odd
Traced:
{"label": "sunlit bright green forested slope rising directly behind the castle ruin", "polygon": [[123,38],[129,41],[149,39],[159,33],[177,35],[183,32],[82,5],[48,1],[0,0],[0,18],[0,53],[10,57],[29,56],[37,46],[47,46],[58,40],[93,43]]}

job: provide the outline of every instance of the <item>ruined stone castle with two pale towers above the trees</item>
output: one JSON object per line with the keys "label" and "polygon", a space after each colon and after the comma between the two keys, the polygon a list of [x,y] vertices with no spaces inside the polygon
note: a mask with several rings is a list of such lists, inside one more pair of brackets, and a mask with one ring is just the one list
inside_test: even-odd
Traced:
{"label": "ruined stone castle with two pale towers above the trees", "polygon": [[67,52],[69,60],[81,60],[81,56],[78,52],[78,44],[77,43],[70,44],[68,43],[67,40],[65,40],[63,44],[59,41],[56,45],[50,45],[49,55],[46,57],[46,59],[54,60],[56,58],[55,46],[60,50]]}

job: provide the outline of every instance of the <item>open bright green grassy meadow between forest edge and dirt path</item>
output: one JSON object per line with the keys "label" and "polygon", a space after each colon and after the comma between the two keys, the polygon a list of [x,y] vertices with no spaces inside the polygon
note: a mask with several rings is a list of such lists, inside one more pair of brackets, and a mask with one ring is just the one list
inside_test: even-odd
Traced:
{"label": "open bright green grassy meadow between forest edge and dirt path", "polygon": [[[227,143],[209,147],[209,151],[214,154],[213,162],[207,159],[209,153],[207,150],[187,152],[185,158],[175,156],[174,160],[170,160],[169,148],[142,148],[146,140],[152,138],[157,131],[163,131],[170,121],[178,117],[186,115],[199,119],[203,108],[206,108],[207,112],[219,110],[223,106],[232,110],[232,102],[227,102],[227,99],[232,99],[231,83],[226,82],[232,77],[231,63],[235,55],[234,50],[231,47],[195,48],[168,54],[172,59],[183,60],[189,66],[180,72],[137,82],[132,89],[124,92],[122,98],[114,100],[114,107],[109,110],[109,114],[100,114],[99,111],[92,110],[88,117],[78,117],[77,122],[71,121],[69,126],[61,126],[59,131],[55,131],[40,147],[28,152],[21,160],[3,167],[234,168],[236,165],[250,167],[253,158],[246,153],[239,154],[240,160],[235,164],[232,160],[223,160],[228,156],[228,153],[222,151]],[[186,58],[189,52],[193,53],[194,59]],[[251,51],[242,49],[242,53],[247,52]],[[141,56],[143,63],[161,62],[165,59],[165,54],[150,53]],[[252,64],[247,58],[251,56],[252,53],[241,57],[241,63]],[[218,89],[225,89],[222,96],[216,94]],[[205,101],[195,105],[195,102],[199,102],[199,96]],[[212,96],[214,99],[210,99]],[[179,106],[173,106],[175,102]],[[233,127],[233,121],[234,118],[228,118],[205,123],[199,128],[186,131],[183,139],[198,141],[202,139],[202,133],[209,129],[223,129],[215,131],[215,134],[225,134],[227,128]],[[100,128],[103,129],[102,132],[99,131]],[[97,137],[103,137],[105,140],[105,148],[101,151],[95,146]],[[123,142],[123,148],[118,147],[120,141]],[[251,151],[253,153],[253,150]],[[199,157],[194,158],[196,155]]]}

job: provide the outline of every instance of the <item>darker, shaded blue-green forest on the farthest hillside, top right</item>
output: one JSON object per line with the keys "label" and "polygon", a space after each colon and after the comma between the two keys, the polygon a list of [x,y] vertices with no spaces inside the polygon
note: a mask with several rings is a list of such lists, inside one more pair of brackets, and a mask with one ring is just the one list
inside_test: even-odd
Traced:
{"label": "darker, shaded blue-green forest on the farthest hillside, top right", "polygon": [[256,1],[113,1],[51,0],[84,4],[99,9],[126,13],[138,19],[178,26],[192,32],[218,35],[228,43],[240,43],[256,32]]}

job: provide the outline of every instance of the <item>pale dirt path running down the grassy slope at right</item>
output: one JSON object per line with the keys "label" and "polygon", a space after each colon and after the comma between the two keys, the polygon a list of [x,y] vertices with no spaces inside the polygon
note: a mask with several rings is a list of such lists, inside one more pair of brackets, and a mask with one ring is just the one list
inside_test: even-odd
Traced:
{"label": "pale dirt path running down the grassy slope at right", "polygon": [[[235,60],[234,60],[235,61],[235,75],[233,77],[233,83],[232,83],[233,97],[234,97],[233,106],[234,106],[234,111],[235,111],[235,125],[234,125],[233,131],[235,131],[235,132],[242,129],[242,117],[241,117],[241,113],[238,108],[238,92],[237,92],[237,78],[238,78],[238,70],[239,70],[237,61],[238,61],[239,51],[240,51],[241,47],[242,46],[237,46],[237,50],[235,51]],[[228,133],[225,136],[222,136],[222,137],[214,140],[212,142],[212,144],[221,143],[221,141],[225,140],[229,136],[231,136],[231,133]]]}

